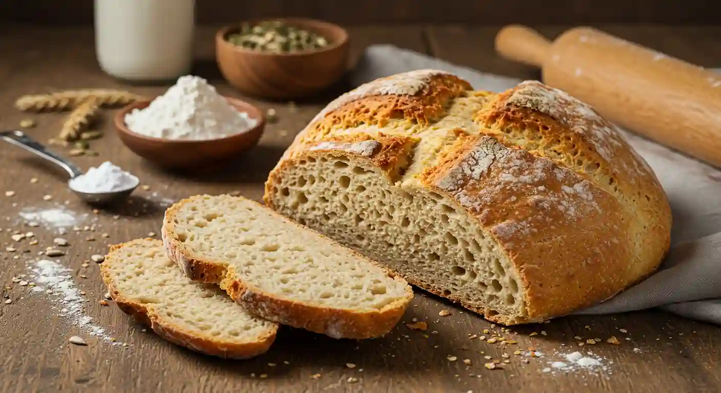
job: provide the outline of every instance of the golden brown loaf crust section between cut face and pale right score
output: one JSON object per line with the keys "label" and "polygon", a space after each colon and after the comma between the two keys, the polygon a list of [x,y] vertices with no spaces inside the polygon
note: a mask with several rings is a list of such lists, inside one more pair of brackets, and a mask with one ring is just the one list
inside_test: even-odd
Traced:
{"label": "golden brown loaf crust section between cut face and pale right score", "polygon": [[523,281],[527,322],[589,306],[628,285],[632,253],[623,240],[622,209],[575,172],[495,138],[473,136],[424,180],[456,200],[503,247]]}

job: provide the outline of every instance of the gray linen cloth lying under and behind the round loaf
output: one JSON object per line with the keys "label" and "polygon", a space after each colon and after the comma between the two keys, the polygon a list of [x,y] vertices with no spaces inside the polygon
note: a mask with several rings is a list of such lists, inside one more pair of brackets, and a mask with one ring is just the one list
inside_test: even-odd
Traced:
{"label": "gray linen cloth lying under and behind the round loaf", "polygon": [[[475,89],[500,92],[518,79],[484,74],[393,45],[366,49],[350,76],[353,86],[415,69],[440,69]],[[721,324],[721,170],[624,132],[655,171],[671,201],[671,251],[650,278],[578,314],[612,314],[659,307]]]}

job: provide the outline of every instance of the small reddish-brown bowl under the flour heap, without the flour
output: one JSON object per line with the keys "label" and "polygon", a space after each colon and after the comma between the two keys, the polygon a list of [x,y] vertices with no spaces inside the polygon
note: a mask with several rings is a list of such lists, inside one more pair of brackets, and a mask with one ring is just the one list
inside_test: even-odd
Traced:
{"label": "small reddish-brown bowl under the flour heap, without the flour", "polygon": [[208,167],[237,159],[244,151],[257,145],[265,128],[265,117],[262,112],[247,102],[225,97],[228,102],[241,112],[247,112],[250,118],[257,120],[255,127],[244,133],[224,138],[203,141],[174,140],[152,138],[131,131],[125,125],[125,115],[134,109],[142,109],[150,105],[149,100],[133,102],[123,107],[115,115],[115,128],[118,129],[120,141],[138,156],[147,159],[159,167],[167,169],[193,169],[202,171]]}

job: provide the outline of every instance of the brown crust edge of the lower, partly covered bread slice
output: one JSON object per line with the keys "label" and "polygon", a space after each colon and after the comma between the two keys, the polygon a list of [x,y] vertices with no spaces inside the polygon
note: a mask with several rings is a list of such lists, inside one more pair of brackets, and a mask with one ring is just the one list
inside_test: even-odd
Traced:
{"label": "brown crust edge of the lower, partly covered bread slice", "polygon": [[115,286],[108,267],[118,262],[115,260],[115,251],[123,247],[132,247],[136,242],[141,241],[156,243],[158,247],[162,245],[157,239],[136,239],[123,244],[115,244],[110,247],[110,252],[105,256],[105,261],[100,265],[102,281],[105,282],[110,292],[110,297],[115,301],[115,304],[118,304],[120,310],[125,312],[125,314],[131,315],[137,322],[150,327],[157,335],[164,338],[164,340],[190,350],[195,350],[199,353],[205,353],[205,355],[218,356],[220,358],[247,359],[265,353],[270,349],[270,345],[275,341],[275,332],[278,330],[277,326],[272,331],[269,331],[267,335],[257,337],[257,340],[252,342],[224,343],[218,340],[217,337],[200,335],[198,332],[187,332],[187,330],[177,326],[177,324],[174,324],[172,321],[164,319],[162,312],[159,312],[158,306],[155,304],[144,304],[123,296],[123,293],[118,291]]}

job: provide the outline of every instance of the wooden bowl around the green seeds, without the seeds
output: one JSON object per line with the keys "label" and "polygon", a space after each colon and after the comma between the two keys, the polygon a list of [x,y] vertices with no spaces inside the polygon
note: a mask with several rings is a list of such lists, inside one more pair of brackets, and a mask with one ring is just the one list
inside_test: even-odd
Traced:
{"label": "wooden bowl around the green seeds, without the seeds", "polygon": [[[338,25],[313,19],[286,18],[287,25],[315,32],[329,44],[296,53],[256,52],[226,40],[239,25],[216,33],[216,60],[224,78],[244,94],[270,100],[292,100],[326,89],[348,69],[348,32]],[[248,21],[254,25],[260,20]]]}

